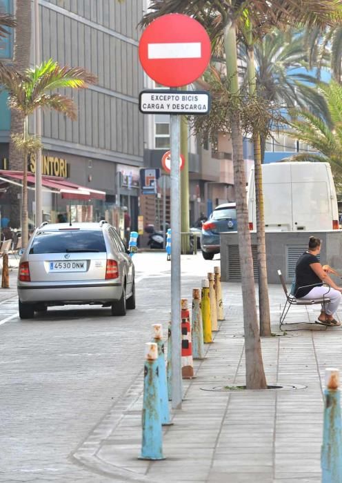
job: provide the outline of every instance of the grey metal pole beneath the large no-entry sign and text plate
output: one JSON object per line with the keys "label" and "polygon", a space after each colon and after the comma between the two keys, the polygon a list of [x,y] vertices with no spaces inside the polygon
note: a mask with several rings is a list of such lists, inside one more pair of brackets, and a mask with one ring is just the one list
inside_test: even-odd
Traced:
{"label": "grey metal pole beneath the large no-entry sign and text plate", "polygon": [[171,337],[172,408],[181,409],[181,179],[179,170],[180,117],[170,116],[171,141]]}

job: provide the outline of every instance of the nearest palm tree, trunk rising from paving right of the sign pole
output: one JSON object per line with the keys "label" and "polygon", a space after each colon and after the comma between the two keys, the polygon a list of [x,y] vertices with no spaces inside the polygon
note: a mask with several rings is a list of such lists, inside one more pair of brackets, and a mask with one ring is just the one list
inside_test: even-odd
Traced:
{"label": "nearest palm tree, trunk rising from paving right of the sign pole", "polygon": [[[331,23],[336,14],[334,0],[197,0],[184,2],[182,0],[154,0],[150,5],[152,12],[145,15],[142,23],[150,23],[163,14],[179,12],[189,14],[212,27],[216,20],[215,33],[223,37],[225,48],[225,64],[227,76],[230,79],[230,92],[239,93],[238,63],[237,63],[237,26],[248,8],[251,28],[256,37],[264,34],[263,26],[279,25],[292,21],[302,21],[311,26],[315,22]],[[243,295],[243,323],[245,331],[245,367],[246,387],[266,388],[261,342],[257,320],[257,309],[254,289],[252,250],[250,231],[248,228],[248,207],[245,193],[245,170],[243,161],[243,138],[239,116],[231,121],[232,148],[234,165],[234,183],[237,199],[237,222],[239,227],[239,256],[241,266],[241,282]]]}

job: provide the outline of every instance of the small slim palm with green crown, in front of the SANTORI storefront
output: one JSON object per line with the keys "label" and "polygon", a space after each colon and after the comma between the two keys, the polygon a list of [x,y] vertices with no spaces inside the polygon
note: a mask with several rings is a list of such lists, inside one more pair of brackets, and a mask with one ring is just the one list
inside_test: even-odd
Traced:
{"label": "small slim palm with green crown, in front of the SANTORI storefront", "polygon": [[32,146],[32,139],[28,136],[28,117],[37,108],[48,108],[77,119],[74,101],[66,95],[52,90],[64,88],[86,88],[94,83],[94,75],[83,68],[61,67],[52,59],[41,63],[40,66],[26,69],[22,73],[15,72],[11,76],[0,75],[0,83],[8,90],[8,103],[13,111],[19,111],[23,119],[23,137],[12,135],[19,152],[23,168],[23,199],[21,219],[21,239],[23,247],[28,244],[28,150]]}

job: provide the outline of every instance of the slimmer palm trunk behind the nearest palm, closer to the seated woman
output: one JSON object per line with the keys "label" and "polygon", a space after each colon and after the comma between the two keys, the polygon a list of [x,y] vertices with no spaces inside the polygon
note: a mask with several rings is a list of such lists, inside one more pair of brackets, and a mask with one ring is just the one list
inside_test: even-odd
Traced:
{"label": "slimmer palm trunk behind the nearest palm, closer to the seated woman", "polygon": [[[257,90],[254,63],[254,47],[252,42],[247,49],[247,72],[250,95]],[[266,264],[265,246],[265,217],[263,213],[263,173],[261,169],[261,140],[260,135],[253,136],[254,144],[254,178],[255,178],[255,201],[257,211],[257,256],[259,275],[259,324],[260,335],[271,337],[270,300],[268,297],[268,276]]]}

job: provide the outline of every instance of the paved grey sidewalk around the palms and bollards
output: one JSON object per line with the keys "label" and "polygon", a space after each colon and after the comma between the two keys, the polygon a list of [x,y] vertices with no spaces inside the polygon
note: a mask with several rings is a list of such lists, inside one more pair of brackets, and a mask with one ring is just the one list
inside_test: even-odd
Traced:
{"label": "paved grey sidewalk around the palms and bollards", "polygon": [[341,327],[299,326],[298,321],[314,322],[319,310],[294,307],[287,321],[305,330],[281,335],[278,320],[285,297],[281,286],[271,286],[276,335],[263,339],[263,361],[268,384],[285,388],[226,391],[223,386],[245,384],[241,287],[223,284],[223,296],[228,301],[226,319],[214,344],[205,346],[207,358],[194,363],[197,377],[183,382],[182,409],[172,412],[173,426],[164,428],[166,459],[138,459],[141,371],[136,384],[74,453],[78,462],[125,482],[321,481],[322,383],[326,367],[341,366]]}

